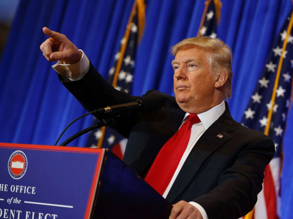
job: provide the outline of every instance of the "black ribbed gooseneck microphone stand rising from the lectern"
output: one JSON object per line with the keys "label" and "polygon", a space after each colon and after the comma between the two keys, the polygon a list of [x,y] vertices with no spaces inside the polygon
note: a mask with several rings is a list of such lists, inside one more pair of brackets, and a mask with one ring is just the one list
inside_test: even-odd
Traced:
{"label": "black ribbed gooseneck microphone stand rising from the lectern", "polygon": [[102,126],[109,126],[109,125],[113,125],[115,122],[116,122],[116,119],[119,117],[119,115],[115,116],[115,117],[111,117],[111,118],[106,118],[106,119],[103,119],[102,122],[99,122],[95,125],[92,125],[90,127],[87,127],[77,133],[75,133],[74,135],[72,135],[71,137],[67,138],[64,142],[61,143],[60,146],[66,146],[67,144],[69,144],[70,142],[72,142],[74,139],[78,138],[79,136],[89,132],[89,131],[92,131],[94,129],[97,129],[97,128],[100,128]]}

